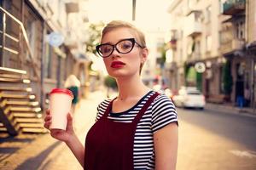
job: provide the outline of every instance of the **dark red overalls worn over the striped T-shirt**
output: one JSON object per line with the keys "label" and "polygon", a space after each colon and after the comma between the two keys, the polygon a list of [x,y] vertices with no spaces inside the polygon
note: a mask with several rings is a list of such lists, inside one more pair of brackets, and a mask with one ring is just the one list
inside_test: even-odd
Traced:
{"label": "dark red overalls worn over the striped T-shirt", "polygon": [[84,169],[133,169],[133,143],[137,123],[159,94],[153,94],[132,122],[113,122],[108,119],[113,100],[103,116],[90,128],[85,140]]}

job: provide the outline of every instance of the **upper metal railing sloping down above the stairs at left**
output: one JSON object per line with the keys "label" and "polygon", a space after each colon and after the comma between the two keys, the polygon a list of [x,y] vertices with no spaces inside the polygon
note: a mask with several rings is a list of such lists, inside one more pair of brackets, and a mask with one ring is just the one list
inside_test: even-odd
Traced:
{"label": "upper metal railing sloping down above the stairs at left", "polygon": [[[25,30],[25,27],[23,25],[23,23],[18,20],[17,18],[15,18],[14,15],[12,14],[9,14],[8,11],[6,11],[4,8],[0,7],[0,13],[3,14],[3,17],[2,17],[2,20],[3,20],[3,26],[2,26],[2,30],[0,31],[0,34],[2,34],[2,44],[0,45],[0,48],[1,48],[1,58],[0,58],[0,61],[1,61],[1,66],[4,66],[4,59],[5,59],[5,56],[4,56],[4,51],[8,51],[9,53],[11,54],[16,54],[16,55],[19,55],[20,57],[20,61],[22,63],[22,55],[23,54],[20,54],[20,51],[21,49],[20,48],[23,48],[23,46],[21,46],[19,44],[19,48],[18,49],[15,49],[15,48],[10,48],[10,47],[7,47],[6,45],[6,38],[9,38],[10,40],[12,40],[13,42],[19,42],[20,43],[20,38],[23,38],[25,41],[25,46],[26,46],[26,50],[28,52],[28,55],[29,55],[29,59],[30,59],[30,62],[32,64],[32,70],[34,71],[34,74],[35,76],[38,78],[38,82],[40,82],[40,76],[39,76],[39,73],[38,73],[38,70],[37,70],[37,67],[36,67],[36,64],[34,62],[34,57],[33,57],[33,54],[32,54],[32,49],[30,48],[30,44],[28,42],[28,37],[27,37],[27,34],[26,34],[26,30]],[[21,35],[21,37],[19,38],[16,38],[10,34],[7,33],[7,30],[6,30],[6,20],[7,20],[7,17],[9,17],[9,19],[15,21],[16,24],[18,24],[19,26],[19,34]],[[23,40],[22,39],[22,40]],[[21,66],[22,67],[22,66]],[[21,68],[23,69],[23,68]],[[40,84],[40,83],[39,83]]]}

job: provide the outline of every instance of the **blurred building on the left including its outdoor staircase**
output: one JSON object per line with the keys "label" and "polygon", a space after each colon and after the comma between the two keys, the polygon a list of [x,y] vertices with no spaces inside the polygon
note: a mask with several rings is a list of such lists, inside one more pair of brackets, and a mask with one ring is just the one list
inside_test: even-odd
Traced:
{"label": "blurred building on the left including its outdoor staircase", "polygon": [[[52,88],[79,77],[89,83],[84,1],[1,0],[1,127],[10,134],[44,132],[42,111]],[[81,8],[80,8],[81,7]]]}

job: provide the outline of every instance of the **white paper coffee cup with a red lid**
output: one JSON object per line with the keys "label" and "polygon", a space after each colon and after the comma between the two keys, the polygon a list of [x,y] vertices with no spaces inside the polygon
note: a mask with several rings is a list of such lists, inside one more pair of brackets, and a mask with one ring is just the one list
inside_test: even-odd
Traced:
{"label": "white paper coffee cup with a red lid", "polygon": [[66,130],[67,114],[70,112],[73,93],[66,88],[54,88],[49,94],[50,129]]}

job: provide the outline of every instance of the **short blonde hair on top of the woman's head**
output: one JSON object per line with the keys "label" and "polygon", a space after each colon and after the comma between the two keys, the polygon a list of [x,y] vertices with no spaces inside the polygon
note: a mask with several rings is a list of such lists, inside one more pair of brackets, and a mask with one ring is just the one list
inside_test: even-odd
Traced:
{"label": "short blonde hair on top of the woman's head", "polygon": [[136,37],[136,41],[142,46],[146,47],[146,40],[145,40],[145,35],[143,34],[142,31],[140,31],[136,26],[133,26],[129,22],[125,22],[123,20],[113,20],[107,24],[102,30],[102,37],[109,31],[113,31],[114,29],[117,28],[128,28],[131,31],[134,32],[134,36]]}

